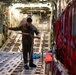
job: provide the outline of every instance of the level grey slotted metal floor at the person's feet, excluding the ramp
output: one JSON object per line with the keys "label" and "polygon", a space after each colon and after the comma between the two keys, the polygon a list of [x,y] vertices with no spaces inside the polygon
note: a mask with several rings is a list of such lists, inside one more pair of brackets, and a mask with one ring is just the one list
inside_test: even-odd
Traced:
{"label": "level grey slotted metal floor at the person's feet, excluding the ramp", "polygon": [[1,52],[0,55],[0,75],[44,75],[44,66],[40,58],[34,59],[36,68],[25,70],[20,53]]}

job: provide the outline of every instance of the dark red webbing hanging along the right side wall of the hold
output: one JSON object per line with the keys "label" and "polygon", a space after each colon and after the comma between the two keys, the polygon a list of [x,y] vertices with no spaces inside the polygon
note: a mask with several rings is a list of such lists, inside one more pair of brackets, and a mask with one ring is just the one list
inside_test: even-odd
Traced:
{"label": "dark red webbing hanging along the right side wall of the hold", "polygon": [[67,5],[64,13],[56,20],[56,58],[68,70],[69,75],[76,75],[75,14],[76,0],[73,0]]}

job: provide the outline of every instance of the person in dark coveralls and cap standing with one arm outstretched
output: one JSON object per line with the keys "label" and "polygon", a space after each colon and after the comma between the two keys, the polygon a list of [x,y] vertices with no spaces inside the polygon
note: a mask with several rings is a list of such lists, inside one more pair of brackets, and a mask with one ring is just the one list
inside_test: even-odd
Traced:
{"label": "person in dark coveralls and cap standing with one arm outstretched", "polygon": [[[40,39],[38,29],[32,24],[32,18],[24,18],[18,27],[8,27],[9,30],[22,31],[22,51],[24,59],[24,68],[29,69],[30,67],[36,67],[33,63],[33,40],[34,33],[35,38]],[[28,63],[28,53],[29,53],[29,65]]]}

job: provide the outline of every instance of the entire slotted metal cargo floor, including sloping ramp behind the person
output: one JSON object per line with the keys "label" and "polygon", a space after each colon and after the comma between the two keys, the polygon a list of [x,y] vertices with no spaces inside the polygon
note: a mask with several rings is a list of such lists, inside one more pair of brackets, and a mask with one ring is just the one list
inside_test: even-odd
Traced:
{"label": "entire slotted metal cargo floor, including sloping ramp behind the person", "polygon": [[[43,33],[41,34],[40,40],[34,40],[35,53],[41,53],[44,38]],[[46,44],[48,47],[46,46],[45,49],[48,49],[49,41]],[[25,70],[21,51],[21,35],[13,33],[0,50],[0,75],[45,75],[45,63],[44,60],[42,61],[42,56],[39,59],[34,59],[36,68]]]}

